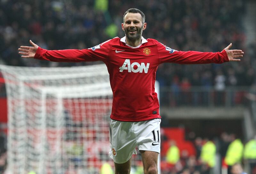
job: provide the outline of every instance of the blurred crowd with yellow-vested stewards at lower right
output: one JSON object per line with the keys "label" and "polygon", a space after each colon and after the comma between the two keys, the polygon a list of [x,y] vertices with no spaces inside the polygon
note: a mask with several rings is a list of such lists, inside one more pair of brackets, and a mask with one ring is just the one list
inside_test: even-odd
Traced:
{"label": "blurred crowd with yellow-vested stewards at lower right", "polygon": [[[189,134],[195,135],[191,132]],[[232,168],[236,165],[242,167],[242,163],[250,166],[251,174],[256,173],[256,150],[253,150],[256,146],[255,138],[242,142],[235,134],[222,132],[220,137],[211,140],[191,136],[188,139],[193,142],[196,153],[189,155],[186,149],[180,150],[175,141],[171,140],[170,147],[161,162],[163,174],[220,173],[213,169],[216,166],[219,166],[217,167],[219,169],[227,170],[228,174],[236,174]],[[217,156],[222,163],[216,163]]]}

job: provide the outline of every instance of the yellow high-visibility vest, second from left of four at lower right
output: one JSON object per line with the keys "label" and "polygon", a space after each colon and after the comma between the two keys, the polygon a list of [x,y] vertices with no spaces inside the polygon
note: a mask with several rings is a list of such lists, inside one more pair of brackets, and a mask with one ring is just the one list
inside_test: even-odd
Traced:
{"label": "yellow high-visibility vest, second from left of four at lower right", "polygon": [[216,146],[212,141],[207,141],[202,146],[200,157],[202,161],[207,163],[210,167],[215,166]]}

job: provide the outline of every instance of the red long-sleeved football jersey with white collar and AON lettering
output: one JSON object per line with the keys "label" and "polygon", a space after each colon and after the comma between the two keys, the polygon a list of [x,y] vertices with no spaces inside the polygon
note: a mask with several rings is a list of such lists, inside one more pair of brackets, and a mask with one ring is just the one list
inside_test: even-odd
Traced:
{"label": "red long-sleeved football jersey with white collar and AON lettering", "polygon": [[215,53],[176,51],[155,39],[143,37],[137,47],[127,45],[125,37],[115,37],[83,50],[45,50],[39,47],[35,59],[56,62],[103,61],[107,65],[113,91],[110,118],[128,122],[161,118],[155,92],[156,70],[159,64],[229,61],[225,50]]}

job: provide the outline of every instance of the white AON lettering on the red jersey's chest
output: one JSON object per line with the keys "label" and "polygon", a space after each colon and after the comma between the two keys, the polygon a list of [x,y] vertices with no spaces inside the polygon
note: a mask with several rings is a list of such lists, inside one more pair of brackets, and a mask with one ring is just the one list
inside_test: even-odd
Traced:
{"label": "white AON lettering on the red jersey's chest", "polygon": [[[136,65],[136,66],[135,66]],[[124,64],[122,67],[119,67],[120,72],[123,72],[124,70],[128,70],[128,72],[134,72],[134,73],[142,73],[143,70],[145,73],[148,73],[148,68],[149,68],[149,63],[145,65],[144,62],[139,64],[138,62],[133,62],[132,64],[130,63],[130,59],[125,59]]]}

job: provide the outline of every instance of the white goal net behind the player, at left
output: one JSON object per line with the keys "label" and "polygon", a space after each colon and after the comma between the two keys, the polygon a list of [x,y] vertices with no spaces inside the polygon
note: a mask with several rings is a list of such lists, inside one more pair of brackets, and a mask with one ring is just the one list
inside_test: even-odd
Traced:
{"label": "white goal net behind the player, at left", "polygon": [[[112,91],[105,64],[0,65],[6,84],[6,173],[95,174],[108,163]],[[140,153],[132,167],[141,168]]]}

